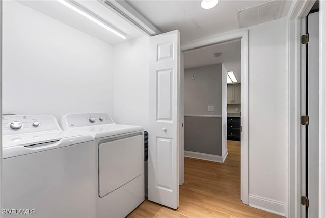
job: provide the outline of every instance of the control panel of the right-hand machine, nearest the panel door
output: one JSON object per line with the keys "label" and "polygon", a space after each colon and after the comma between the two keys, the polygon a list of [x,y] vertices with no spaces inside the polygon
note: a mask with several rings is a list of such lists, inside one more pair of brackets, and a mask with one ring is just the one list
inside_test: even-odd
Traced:
{"label": "control panel of the right-hand machine, nearest the panel door", "polygon": [[113,124],[110,115],[106,113],[84,113],[84,114],[68,114],[61,118],[62,124],[68,127],[84,127],[100,124]]}

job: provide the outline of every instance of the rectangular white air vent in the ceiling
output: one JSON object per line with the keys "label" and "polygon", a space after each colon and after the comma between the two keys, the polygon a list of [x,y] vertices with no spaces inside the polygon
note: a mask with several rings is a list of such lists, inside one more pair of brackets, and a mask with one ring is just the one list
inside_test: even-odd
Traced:
{"label": "rectangular white air vent in the ceiling", "polygon": [[269,1],[237,11],[239,28],[279,19],[284,1]]}

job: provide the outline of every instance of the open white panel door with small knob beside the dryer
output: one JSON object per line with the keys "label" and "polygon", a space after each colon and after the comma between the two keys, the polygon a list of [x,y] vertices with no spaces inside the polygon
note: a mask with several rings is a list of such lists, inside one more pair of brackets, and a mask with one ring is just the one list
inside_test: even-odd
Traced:
{"label": "open white panel door with small knob beside the dryer", "polygon": [[179,206],[180,33],[150,39],[148,199]]}

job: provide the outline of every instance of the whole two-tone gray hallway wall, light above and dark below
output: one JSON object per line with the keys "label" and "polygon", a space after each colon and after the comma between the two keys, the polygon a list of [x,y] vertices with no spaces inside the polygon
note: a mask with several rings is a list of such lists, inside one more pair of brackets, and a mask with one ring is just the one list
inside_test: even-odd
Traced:
{"label": "whole two-tone gray hallway wall, light above and dark below", "polygon": [[222,118],[205,117],[222,114],[221,64],[184,70],[184,114],[184,150],[221,156]]}

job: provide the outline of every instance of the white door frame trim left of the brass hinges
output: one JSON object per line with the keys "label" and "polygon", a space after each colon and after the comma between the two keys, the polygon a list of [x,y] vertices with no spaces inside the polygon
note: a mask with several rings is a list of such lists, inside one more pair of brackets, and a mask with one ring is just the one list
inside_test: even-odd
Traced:
{"label": "white door frame trim left of the brass hinges", "polygon": [[286,217],[301,217],[301,135],[300,116],[302,111],[301,99],[301,21],[311,10],[315,0],[293,1],[287,15],[287,82],[286,103],[287,112],[287,155],[286,155]]}

